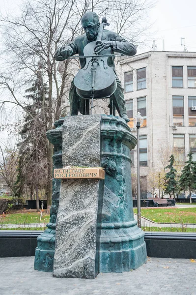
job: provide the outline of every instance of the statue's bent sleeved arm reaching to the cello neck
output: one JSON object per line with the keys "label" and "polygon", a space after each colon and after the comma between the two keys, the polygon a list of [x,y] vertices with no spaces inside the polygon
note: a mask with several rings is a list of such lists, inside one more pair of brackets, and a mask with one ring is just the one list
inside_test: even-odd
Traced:
{"label": "statue's bent sleeved arm reaching to the cello neck", "polygon": [[119,35],[116,35],[115,41],[112,41],[112,43],[112,48],[115,52],[119,52],[127,56],[134,56],[137,53],[135,45],[129,43]]}

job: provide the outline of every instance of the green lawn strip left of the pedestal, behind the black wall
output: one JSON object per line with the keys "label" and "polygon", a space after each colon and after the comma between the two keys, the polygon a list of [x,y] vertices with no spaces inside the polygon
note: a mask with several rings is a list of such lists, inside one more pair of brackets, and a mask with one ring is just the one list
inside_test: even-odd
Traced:
{"label": "green lawn strip left of the pedestal, behind the black wall", "polygon": [[0,215],[1,224],[27,224],[27,223],[48,223],[50,214],[43,214],[40,221],[40,214],[37,212],[24,212],[24,213],[8,213]]}

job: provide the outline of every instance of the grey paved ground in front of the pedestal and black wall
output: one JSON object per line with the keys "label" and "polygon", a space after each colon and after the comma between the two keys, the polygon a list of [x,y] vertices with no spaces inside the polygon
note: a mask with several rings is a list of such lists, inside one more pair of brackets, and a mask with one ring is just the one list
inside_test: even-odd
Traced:
{"label": "grey paved ground in front of the pedestal and black wall", "polygon": [[94,280],[53,278],[34,257],[0,258],[0,295],[196,295],[196,263],[148,258],[140,268],[100,273]]}

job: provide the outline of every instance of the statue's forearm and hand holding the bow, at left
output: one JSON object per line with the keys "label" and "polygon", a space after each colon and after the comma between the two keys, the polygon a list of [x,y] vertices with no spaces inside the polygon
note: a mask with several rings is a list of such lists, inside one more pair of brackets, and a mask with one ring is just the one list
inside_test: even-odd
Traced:
{"label": "statue's forearm and hand holding the bow, at left", "polygon": [[65,60],[75,54],[78,54],[78,47],[75,42],[70,42],[69,44],[56,49],[55,59],[57,61]]}

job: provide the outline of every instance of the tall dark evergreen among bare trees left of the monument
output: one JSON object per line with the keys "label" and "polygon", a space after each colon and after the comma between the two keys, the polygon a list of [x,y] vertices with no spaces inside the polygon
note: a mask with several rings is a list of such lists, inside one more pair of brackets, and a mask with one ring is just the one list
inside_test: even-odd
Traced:
{"label": "tall dark evergreen among bare trees left of the monument", "polygon": [[[39,211],[39,189],[47,185],[47,148],[46,148],[46,117],[47,110],[43,110],[43,101],[46,105],[48,88],[43,83],[41,70],[37,71],[35,81],[26,90],[28,99],[28,114],[20,131],[19,165],[16,186],[18,194],[22,188],[28,186],[30,191],[36,192],[37,211]],[[32,117],[30,115],[32,115]]]}

